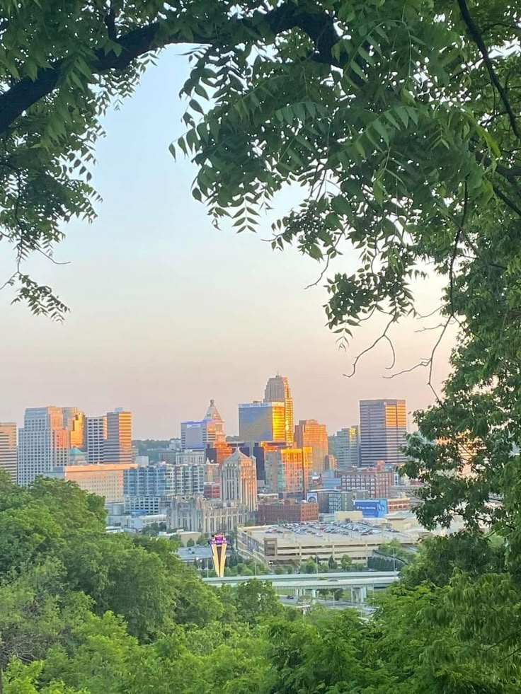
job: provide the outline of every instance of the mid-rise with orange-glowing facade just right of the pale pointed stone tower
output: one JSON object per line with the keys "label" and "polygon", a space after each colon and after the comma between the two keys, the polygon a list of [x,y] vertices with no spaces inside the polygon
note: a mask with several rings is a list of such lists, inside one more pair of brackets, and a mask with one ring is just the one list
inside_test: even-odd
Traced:
{"label": "mid-rise with orange-glowing facade just right of the pale pointed stone tower", "polygon": [[311,487],[312,449],[266,451],[265,483],[268,492],[305,495]]}

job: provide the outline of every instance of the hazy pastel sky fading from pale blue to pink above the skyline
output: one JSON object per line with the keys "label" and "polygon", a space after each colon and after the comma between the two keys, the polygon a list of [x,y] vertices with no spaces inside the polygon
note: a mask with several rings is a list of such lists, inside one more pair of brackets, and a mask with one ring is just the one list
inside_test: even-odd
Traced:
{"label": "hazy pastel sky fading from pale blue to pink above the skyline", "polygon": [[[361,398],[406,398],[408,410],[433,402],[424,369],[387,380],[382,343],[345,378],[353,358],[382,330],[366,325],[348,352],[325,327],[321,287],[304,289],[320,265],[296,250],[275,253],[258,234],[216,231],[190,195],[194,168],[173,161],[168,144],[183,132],[178,91],[187,74],[173,50],[149,69],[136,95],[105,120],[93,183],[103,197],[94,224],[74,221],[52,265],[28,264],[71,307],[64,324],[9,306],[0,292],[0,421],[21,424],[25,407],[76,405],[88,415],[133,412],[136,438],[178,436],[214,398],[227,432],[237,432],[237,403],[263,397],[269,376],[288,376],[295,419],[315,418],[330,432],[355,424]],[[277,212],[297,199],[282,195]],[[13,256],[0,249],[0,284]],[[344,255],[336,267],[354,270]],[[439,303],[436,278],[418,286],[419,306]],[[430,354],[435,332],[412,320],[391,333],[396,370]],[[451,338],[435,361],[447,374]]]}

